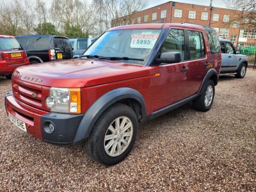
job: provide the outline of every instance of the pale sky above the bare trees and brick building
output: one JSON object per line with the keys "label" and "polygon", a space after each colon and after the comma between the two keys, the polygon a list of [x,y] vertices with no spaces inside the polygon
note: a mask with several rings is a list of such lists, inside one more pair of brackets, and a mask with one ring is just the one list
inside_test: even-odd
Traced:
{"label": "pale sky above the bare trees and brick building", "polygon": [[[0,0],[0,3],[7,3],[7,2],[12,2],[13,0]],[[31,0],[32,2],[35,0]],[[89,3],[91,0],[87,0]],[[166,3],[170,0],[148,0],[148,6],[146,8],[150,8],[153,6],[157,6],[162,3]],[[44,2],[47,3],[47,6],[51,5],[52,0],[44,0]],[[180,3],[192,3],[192,4],[197,4],[197,5],[204,5],[204,6],[209,6],[210,0],[175,0],[175,2],[180,2]],[[221,7],[221,8],[227,8],[226,4],[224,3],[225,0],[212,0],[212,6],[214,7]]]}

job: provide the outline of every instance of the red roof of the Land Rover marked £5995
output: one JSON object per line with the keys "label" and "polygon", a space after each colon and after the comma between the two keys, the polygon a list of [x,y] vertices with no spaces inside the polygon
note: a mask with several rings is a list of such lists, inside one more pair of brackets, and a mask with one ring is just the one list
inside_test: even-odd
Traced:
{"label": "red roof of the Land Rover marked \u00a35995", "polygon": [[108,31],[120,30],[120,29],[162,29],[162,28],[169,28],[171,26],[186,27],[186,28],[201,29],[201,30],[204,30],[206,28],[206,26],[197,25],[194,23],[146,23],[146,24],[117,26],[117,27],[108,29]]}

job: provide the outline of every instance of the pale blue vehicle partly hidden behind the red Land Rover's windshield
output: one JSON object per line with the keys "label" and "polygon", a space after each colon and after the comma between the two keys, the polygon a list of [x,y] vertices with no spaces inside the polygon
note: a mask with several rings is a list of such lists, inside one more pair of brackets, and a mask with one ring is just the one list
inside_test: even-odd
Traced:
{"label": "pale blue vehicle partly hidden behind the red Land Rover's windshield", "polygon": [[70,39],[71,47],[73,48],[74,58],[79,58],[80,55],[95,41],[95,38],[78,38]]}

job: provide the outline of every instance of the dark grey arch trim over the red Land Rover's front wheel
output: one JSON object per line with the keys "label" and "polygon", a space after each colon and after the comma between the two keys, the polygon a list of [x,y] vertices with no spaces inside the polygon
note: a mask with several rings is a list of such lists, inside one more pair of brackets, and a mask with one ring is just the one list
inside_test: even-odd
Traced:
{"label": "dark grey arch trim over the red Land Rover's front wheel", "polygon": [[86,140],[90,136],[90,132],[99,119],[99,116],[111,105],[122,99],[137,100],[142,107],[142,121],[146,119],[146,105],[143,96],[137,90],[130,87],[117,88],[97,99],[86,113],[84,113],[76,130],[73,143],[81,143]]}

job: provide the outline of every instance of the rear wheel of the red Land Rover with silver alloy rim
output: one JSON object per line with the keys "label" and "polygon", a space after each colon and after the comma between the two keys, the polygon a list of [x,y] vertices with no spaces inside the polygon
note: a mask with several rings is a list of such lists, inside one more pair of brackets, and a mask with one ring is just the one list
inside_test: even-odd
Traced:
{"label": "rear wheel of the red Land Rover with silver alloy rim", "polygon": [[[211,101],[209,102],[210,95],[208,95],[209,99],[206,102],[207,92],[209,92],[210,88],[212,88]],[[198,98],[193,100],[193,107],[198,111],[208,111],[212,107],[214,94],[215,94],[215,84],[211,79],[209,79],[207,84],[204,87],[203,93]]]}

